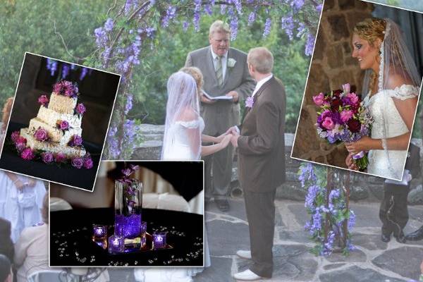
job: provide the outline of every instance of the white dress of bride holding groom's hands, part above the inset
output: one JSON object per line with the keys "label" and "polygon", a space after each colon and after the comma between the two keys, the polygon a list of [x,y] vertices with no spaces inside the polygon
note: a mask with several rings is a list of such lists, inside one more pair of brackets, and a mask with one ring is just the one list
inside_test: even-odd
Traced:
{"label": "white dress of bride holding groom's hands, part above the inset", "polygon": [[[193,121],[176,121],[168,128],[168,144],[164,147],[162,159],[172,160],[200,160],[200,148],[192,149],[190,130],[200,128],[200,134],[204,130],[204,120],[198,117]],[[197,136],[201,138],[201,136]]]}

